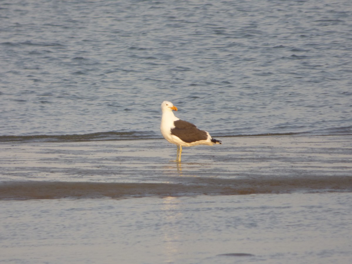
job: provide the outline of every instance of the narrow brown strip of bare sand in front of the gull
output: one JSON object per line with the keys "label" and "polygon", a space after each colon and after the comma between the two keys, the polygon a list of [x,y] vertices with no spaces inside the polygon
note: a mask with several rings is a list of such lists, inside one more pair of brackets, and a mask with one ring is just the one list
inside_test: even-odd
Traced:
{"label": "narrow brown strip of bare sand in front of the gull", "polygon": [[59,198],[123,198],[146,196],[245,195],[293,192],[352,191],[352,177],[211,179],[208,183],[107,183],[7,181],[0,183],[0,200]]}

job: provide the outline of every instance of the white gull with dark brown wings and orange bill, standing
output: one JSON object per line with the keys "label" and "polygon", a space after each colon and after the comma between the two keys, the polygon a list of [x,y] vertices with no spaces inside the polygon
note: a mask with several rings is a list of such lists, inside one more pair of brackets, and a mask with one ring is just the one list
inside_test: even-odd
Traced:
{"label": "white gull with dark brown wings and orange bill, standing", "polygon": [[199,130],[195,125],[175,117],[172,110],[177,107],[171,102],[164,101],[161,104],[162,117],[160,131],[168,142],[177,145],[176,161],[181,161],[182,146],[221,144],[220,140],[212,138],[207,131]]}

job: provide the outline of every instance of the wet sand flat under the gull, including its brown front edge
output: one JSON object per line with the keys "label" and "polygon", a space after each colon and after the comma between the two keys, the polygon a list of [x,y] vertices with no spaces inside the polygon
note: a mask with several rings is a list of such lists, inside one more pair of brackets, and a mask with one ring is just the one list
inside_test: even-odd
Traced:
{"label": "wet sand flat under the gull, including its brown front edge", "polygon": [[0,199],[351,191],[352,136],[1,144]]}

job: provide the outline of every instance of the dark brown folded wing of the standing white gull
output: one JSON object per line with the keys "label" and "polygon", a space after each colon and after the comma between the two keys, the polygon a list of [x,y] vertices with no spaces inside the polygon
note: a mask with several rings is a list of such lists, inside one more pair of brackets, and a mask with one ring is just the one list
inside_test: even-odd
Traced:
{"label": "dark brown folded wing of the standing white gull", "polygon": [[174,125],[175,128],[171,129],[171,134],[179,137],[184,142],[191,143],[208,138],[207,132],[199,130],[190,122],[177,120],[174,122]]}

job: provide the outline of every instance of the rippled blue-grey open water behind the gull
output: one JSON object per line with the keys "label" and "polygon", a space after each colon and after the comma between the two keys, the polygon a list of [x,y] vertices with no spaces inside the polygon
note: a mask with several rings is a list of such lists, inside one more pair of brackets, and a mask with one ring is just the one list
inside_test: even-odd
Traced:
{"label": "rippled blue-grey open water behind the gull", "polygon": [[213,136],[352,130],[348,0],[15,0],[0,24],[1,136],[158,138],[164,100]]}

